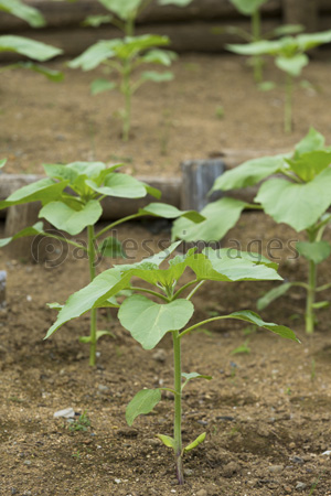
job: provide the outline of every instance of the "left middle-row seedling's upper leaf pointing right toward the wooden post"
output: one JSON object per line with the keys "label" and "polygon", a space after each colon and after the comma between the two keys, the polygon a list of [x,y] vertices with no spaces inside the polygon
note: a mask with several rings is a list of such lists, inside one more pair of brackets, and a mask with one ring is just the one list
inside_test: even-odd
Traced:
{"label": "left middle-row seedling's upper leaf pointing right toward the wooden post", "polygon": [[104,186],[97,186],[93,181],[86,181],[86,184],[102,195],[116,196],[118,198],[141,198],[147,194],[145,183],[131,175],[121,173],[108,174]]}

